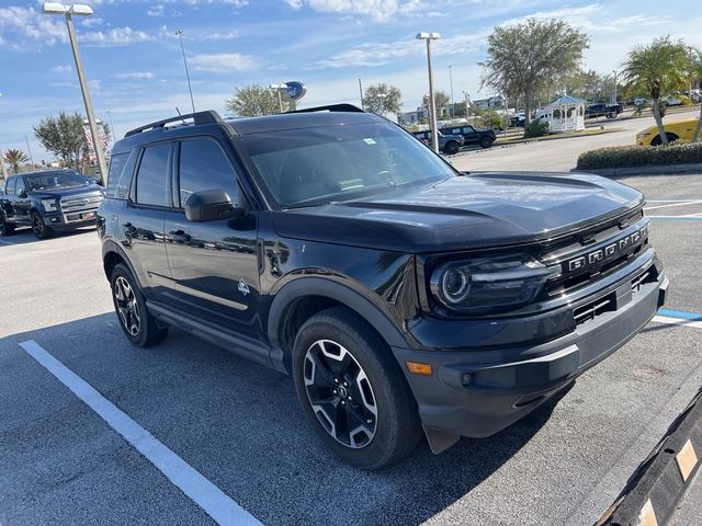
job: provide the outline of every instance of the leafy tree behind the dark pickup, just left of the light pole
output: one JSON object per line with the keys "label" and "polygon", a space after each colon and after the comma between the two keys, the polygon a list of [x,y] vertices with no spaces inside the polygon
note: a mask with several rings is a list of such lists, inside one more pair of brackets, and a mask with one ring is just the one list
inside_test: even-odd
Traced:
{"label": "leafy tree behind the dark pickup, just left of the light pole", "polygon": [[68,168],[80,170],[80,162],[88,153],[88,139],[83,132],[83,116],[76,112],[58,117],[46,117],[34,126],[34,135],[44,148],[60,158]]}

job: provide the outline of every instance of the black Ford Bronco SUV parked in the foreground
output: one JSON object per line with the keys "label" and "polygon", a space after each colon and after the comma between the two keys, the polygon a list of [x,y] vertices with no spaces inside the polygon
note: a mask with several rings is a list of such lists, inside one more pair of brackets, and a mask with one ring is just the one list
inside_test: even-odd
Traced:
{"label": "black Ford Bronco SUV parked in the foreground", "polygon": [[321,441],[377,469],[502,430],[644,328],[668,282],[643,205],[458,173],[337,105],[129,132],[98,226],[126,338],[174,325],[291,374]]}

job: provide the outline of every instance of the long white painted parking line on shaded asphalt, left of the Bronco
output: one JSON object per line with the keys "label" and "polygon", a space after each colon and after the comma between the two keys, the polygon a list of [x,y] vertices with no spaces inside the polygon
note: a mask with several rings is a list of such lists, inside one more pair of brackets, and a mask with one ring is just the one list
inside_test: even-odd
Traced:
{"label": "long white painted parking line on shaded asphalt, left of the Bronco", "polygon": [[223,526],[260,525],[219,488],[185,460],[160,443],[148,431],[117,409],[90,384],[76,375],[33,340],[20,344],[36,362],[68,387],[90,409],[144,455],[168,480]]}

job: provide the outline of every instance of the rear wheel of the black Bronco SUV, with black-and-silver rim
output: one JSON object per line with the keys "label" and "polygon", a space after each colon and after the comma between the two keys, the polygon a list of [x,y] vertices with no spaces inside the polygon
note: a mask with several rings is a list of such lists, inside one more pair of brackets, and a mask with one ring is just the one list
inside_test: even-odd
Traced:
{"label": "rear wheel of the black Bronco SUV, with black-and-silver rim", "polygon": [[137,347],[150,347],[163,341],[168,328],[161,329],[156,324],[156,318],[148,311],[144,294],[126,265],[120,263],[114,267],[110,285],[124,335]]}

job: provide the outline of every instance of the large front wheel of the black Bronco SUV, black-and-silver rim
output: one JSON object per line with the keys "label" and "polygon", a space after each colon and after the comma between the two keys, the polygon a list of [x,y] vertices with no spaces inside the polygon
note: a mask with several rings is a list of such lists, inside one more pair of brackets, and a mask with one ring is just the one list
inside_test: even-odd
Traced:
{"label": "large front wheel of the black Bronco SUV, black-and-silver rim", "polygon": [[417,404],[387,344],[353,312],[307,320],[293,347],[297,398],[321,442],[361,469],[392,466],[421,438]]}

